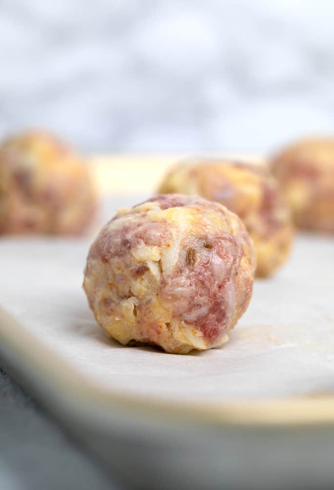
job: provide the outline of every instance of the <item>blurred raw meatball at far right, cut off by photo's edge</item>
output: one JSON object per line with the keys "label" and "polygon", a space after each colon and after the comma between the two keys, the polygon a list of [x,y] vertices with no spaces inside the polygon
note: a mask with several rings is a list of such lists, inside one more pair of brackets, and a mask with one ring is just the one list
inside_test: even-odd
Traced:
{"label": "blurred raw meatball at far right, cut off by photo's edge", "polygon": [[334,139],[307,139],[273,159],[299,228],[334,233]]}

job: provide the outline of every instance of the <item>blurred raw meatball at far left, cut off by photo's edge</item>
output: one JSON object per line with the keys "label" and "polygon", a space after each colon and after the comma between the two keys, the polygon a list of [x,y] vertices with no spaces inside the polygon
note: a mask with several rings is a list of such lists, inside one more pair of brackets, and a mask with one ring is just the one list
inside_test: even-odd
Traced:
{"label": "blurred raw meatball at far left, cut off by photo's edge", "polygon": [[27,132],[0,147],[0,234],[79,234],[95,212],[85,163],[43,132]]}

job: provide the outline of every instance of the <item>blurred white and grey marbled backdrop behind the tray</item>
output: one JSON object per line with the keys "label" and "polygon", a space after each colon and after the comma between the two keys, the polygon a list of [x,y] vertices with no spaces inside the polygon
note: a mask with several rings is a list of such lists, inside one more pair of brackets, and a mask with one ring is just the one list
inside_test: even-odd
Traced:
{"label": "blurred white and grey marbled backdrop behind the tray", "polygon": [[334,127],[332,0],[0,0],[0,137],[251,151]]}

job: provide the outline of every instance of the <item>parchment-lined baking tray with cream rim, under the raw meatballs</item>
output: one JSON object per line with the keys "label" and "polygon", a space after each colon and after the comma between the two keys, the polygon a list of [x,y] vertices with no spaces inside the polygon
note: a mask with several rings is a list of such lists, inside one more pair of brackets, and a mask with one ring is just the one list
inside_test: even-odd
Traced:
{"label": "parchment-lined baking tray with cream rim, under the raw meatballs", "polygon": [[[150,185],[104,199],[101,221]],[[90,241],[0,241],[8,372],[133,487],[333,484],[333,239],[299,235],[230,342],[185,356],[103,335],[81,289]]]}

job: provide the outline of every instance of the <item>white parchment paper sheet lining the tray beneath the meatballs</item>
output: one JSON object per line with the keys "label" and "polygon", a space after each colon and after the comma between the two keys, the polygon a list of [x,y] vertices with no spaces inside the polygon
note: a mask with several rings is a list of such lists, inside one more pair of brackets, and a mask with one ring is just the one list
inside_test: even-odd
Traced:
{"label": "white parchment paper sheet lining the tray beneath the meatballs", "polygon": [[88,246],[2,239],[0,304],[95,383],[187,400],[334,391],[334,239],[298,237],[286,267],[256,281],[230,341],[183,356],[105,337],[81,288]]}

